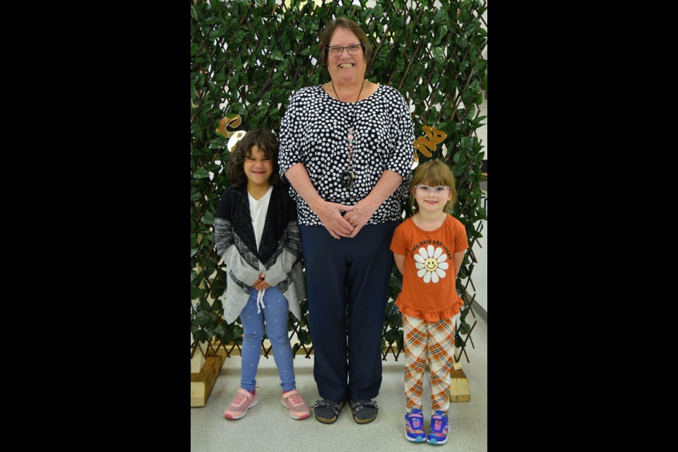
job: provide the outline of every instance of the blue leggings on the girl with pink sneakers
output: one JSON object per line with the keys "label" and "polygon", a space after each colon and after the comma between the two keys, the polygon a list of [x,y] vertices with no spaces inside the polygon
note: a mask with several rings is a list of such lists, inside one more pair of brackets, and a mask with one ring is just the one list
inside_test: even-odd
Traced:
{"label": "blue leggings on the girl with pink sneakers", "polygon": [[247,391],[256,387],[256,369],[261,357],[261,339],[264,328],[273,345],[273,359],[280,375],[280,387],[283,391],[292,391],[297,387],[295,368],[292,363],[292,346],[287,337],[287,299],[277,287],[268,287],[263,295],[265,308],[257,313],[257,291],[249,290],[249,300],[240,313],[242,323],[242,369],[240,386]]}

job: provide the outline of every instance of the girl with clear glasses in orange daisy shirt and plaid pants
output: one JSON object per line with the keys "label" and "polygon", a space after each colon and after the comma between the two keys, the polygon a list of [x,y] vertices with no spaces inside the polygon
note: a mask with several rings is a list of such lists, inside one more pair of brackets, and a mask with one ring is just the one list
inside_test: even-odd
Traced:
{"label": "girl with clear glasses in orange daisy shirt and plaid pants", "polygon": [[[448,433],[454,321],[463,300],[456,280],[465,250],[465,227],[446,213],[456,203],[454,175],[441,160],[429,160],[412,177],[415,214],[396,227],[391,251],[403,274],[396,305],[403,314],[405,344],[405,437],[444,444]],[[424,367],[431,369],[433,415],[424,433]]]}

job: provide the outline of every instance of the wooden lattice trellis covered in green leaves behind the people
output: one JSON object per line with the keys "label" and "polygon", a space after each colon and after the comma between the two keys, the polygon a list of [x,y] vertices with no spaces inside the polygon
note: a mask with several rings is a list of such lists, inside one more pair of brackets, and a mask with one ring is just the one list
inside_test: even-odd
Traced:
{"label": "wooden lattice trellis covered in green leaves behind the people", "polygon": [[[438,4],[439,7],[435,7]],[[319,35],[327,20],[347,16],[367,33],[374,49],[367,78],[391,85],[410,104],[415,136],[435,126],[447,136],[432,157],[442,158],[458,179],[455,215],[466,227],[470,248],[457,290],[466,302],[458,325],[459,354],[466,354],[475,328],[475,246],[486,219],[480,203],[482,145],[476,129],[482,124],[478,106],[486,89],[487,1],[199,1],[191,5],[191,357],[198,342],[213,355],[239,353],[242,327],[221,318],[225,271],[218,264],[212,230],[220,194],[230,182],[225,174],[229,151],[216,133],[223,117],[239,114],[242,129],[278,131],[292,94],[324,83],[328,73],[319,64]],[[429,154],[430,155],[430,154]],[[420,155],[420,162],[429,156]],[[410,215],[408,206],[405,213]],[[391,301],[383,326],[383,359],[397,360],[403,348],[400,314],[393,299],[401,279],[394,269]],[[465,281],[465,283],[463,283]],[[466,321],[468,313],[473,325]],[[304,319],[290,316],[295,354],[312,352],[307,304]],[[268,357],[270,347],[262,344]]]}

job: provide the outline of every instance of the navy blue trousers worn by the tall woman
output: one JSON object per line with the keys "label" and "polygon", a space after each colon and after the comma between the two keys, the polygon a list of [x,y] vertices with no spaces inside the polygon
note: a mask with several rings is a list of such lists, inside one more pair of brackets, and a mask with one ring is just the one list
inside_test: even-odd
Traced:
{"label": "navy blue trousers worn by the tall woman", "polygon": [[397,221],[333,238],[300,226],[309,297],[313,376],[321,398],[365,400],[381,387],[381,334]]}

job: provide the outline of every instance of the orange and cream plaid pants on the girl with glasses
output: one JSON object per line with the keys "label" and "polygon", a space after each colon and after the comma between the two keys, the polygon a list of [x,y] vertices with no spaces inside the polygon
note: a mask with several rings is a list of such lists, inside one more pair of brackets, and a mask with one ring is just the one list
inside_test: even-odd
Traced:
{"label": "orange and cream plaid pants on the girl with glasses", "polygon": [[450,373],[454,367],[454,320],[425,321],[403,314],[405,405],[422,409],[424,369],[431,370],[431,409],[450,408]]}

